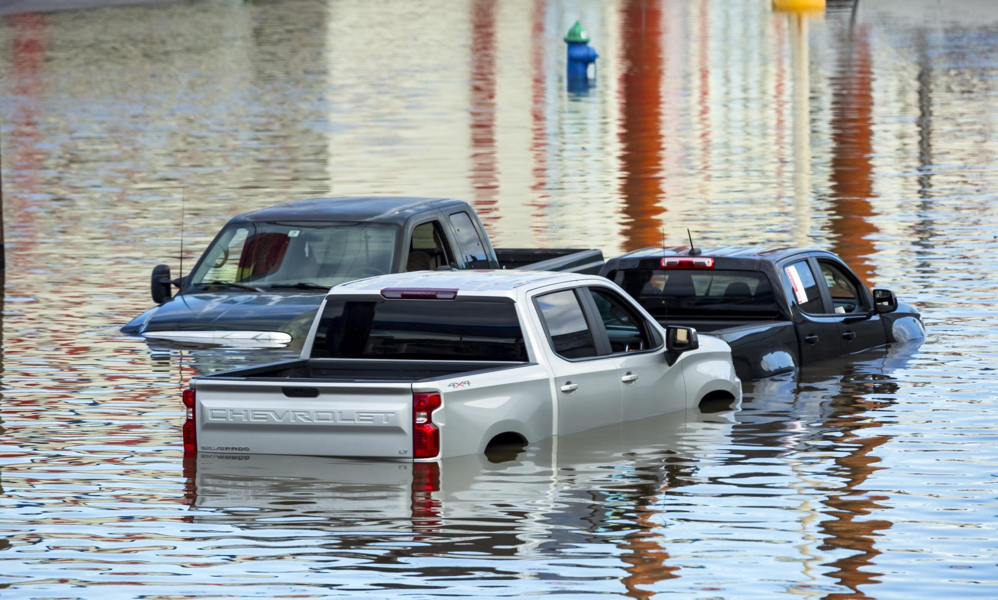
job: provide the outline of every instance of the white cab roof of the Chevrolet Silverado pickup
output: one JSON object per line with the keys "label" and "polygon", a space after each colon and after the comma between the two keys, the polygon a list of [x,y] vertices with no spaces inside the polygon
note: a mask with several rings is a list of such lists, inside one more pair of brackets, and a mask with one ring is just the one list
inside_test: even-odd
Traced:
{"label": "white cab roof of the Chevrolet Silverado pickup", "polygon": [[520,270],[419,271],[384,275],[336,286],[330,296],[338,294],[380,294],[385,289],[455,290],[473,292],[476,296],[514,296],[524,286],[540,287],[561,283],[598,280],[577,273]]}

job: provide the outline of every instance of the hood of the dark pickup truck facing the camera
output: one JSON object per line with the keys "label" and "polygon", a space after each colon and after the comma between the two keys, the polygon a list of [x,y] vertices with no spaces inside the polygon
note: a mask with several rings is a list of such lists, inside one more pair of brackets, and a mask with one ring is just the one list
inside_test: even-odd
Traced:
{"label": "hood of the dark pickup truck facing the camera", "polygon": [[324,298],[325,292],[183,294],[147,311],[136,332],[282,331],[304,337]]}

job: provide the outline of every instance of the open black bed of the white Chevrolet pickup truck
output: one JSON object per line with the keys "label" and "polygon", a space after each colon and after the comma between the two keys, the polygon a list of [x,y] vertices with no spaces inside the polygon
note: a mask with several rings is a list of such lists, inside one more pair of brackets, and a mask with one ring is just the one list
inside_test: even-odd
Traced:
{"label": "open black bed of the white Chevrolet pickup truck", "polygon": [[204,380],[266,381],[304,379],[336,382],[416,382],[457,374],[479,373],[521,366],[523,362],[486,362],[464,360],[372,360],[346,358],[311,358],[282,360],[249,368],[236,368],[208,375]]}

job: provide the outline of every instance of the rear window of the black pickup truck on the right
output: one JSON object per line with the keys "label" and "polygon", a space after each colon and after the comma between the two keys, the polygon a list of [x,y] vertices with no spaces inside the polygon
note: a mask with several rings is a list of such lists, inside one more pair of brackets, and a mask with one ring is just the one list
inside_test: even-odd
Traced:
{"label": "rear window of the black pickup truck on the right", "polygon": [[779,314],[769,280],[761,273],[632,269],[618,271],[613,280],[657,317]]}

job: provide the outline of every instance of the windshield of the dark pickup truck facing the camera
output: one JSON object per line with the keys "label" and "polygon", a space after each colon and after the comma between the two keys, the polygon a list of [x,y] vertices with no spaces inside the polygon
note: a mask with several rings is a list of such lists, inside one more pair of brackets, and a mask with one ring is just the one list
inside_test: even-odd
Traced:
{"label": "windshield of the dark pickup truck facing the camera", "polygon": [[232,225],[205,252],[191,286],[328,289],[384,275],[392,271],[396,233],[373,223]]}

